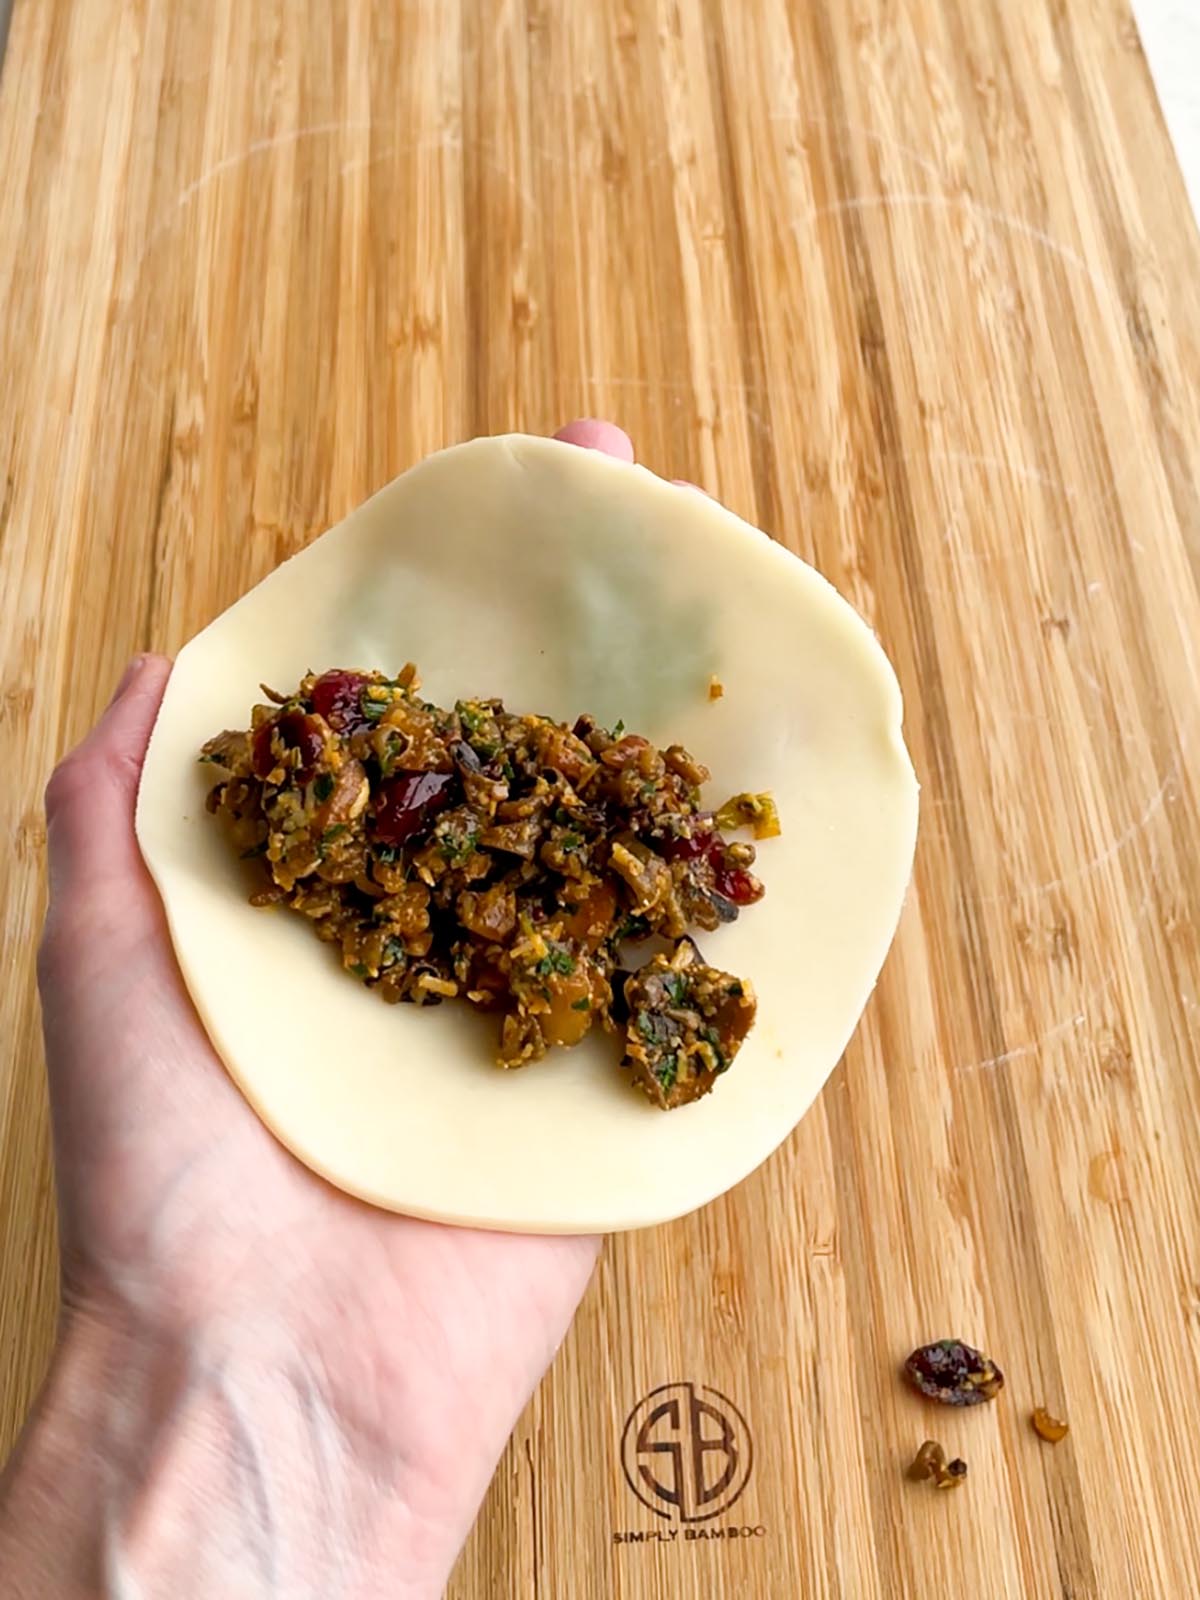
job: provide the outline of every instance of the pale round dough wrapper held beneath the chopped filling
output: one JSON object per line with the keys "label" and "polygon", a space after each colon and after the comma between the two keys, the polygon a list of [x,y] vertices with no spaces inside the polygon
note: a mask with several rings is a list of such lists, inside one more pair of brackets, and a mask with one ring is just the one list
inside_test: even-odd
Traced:
{"label": "pale round dough wrapper held beneath the chopped filling", "polygon": [[[699,936],[758,995],[710,1096],[658,1110],[600,1030],[502,1072],[494,1018],[384,1005],[304,918],[246,904],[246,869],[205,813],[202,742],[248,725],[259,683],[405,661],[437,704],[498,694],[682,742],[712,768],[717,805],[774,794],[782,834],[755,869],[765,899]],[[381,490],[179,653],[138,837],[216,1050],[302,1162],[446,1222],[642,1227],[758,1166],[842,1056],[912,869],[901,717],[861,618],[715,501],[573,445],[480,438]]]}

